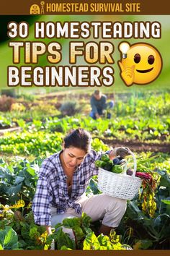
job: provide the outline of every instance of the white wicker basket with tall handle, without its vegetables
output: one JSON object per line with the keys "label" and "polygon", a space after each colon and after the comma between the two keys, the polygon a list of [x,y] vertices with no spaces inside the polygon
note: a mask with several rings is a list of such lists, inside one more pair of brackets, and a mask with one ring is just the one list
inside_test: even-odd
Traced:
{"label": "white wicker basket with tall handle, without its vegetables", "polygon": [[130,155],[133,156],[134,161],[134,171],[132,176],[127,175],[126,173],[115,174],[111,171],[99,168],[97,187],[101,192],[112,197],[126,200],[132,200],[133,197],[135,197],[142,183],[142,179],[135,176],[137,163],[135,155],[131,151]]}

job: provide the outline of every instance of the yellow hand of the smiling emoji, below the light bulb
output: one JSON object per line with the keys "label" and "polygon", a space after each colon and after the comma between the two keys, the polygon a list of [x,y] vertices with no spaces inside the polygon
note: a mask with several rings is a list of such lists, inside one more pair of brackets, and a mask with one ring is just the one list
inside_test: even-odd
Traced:
{"label": "yellow hand of the smiling emoji, below the light bulb", "polygon": [[135,65],[133,65],[132,67],[124,67],[122,62],[120,61],[118,62],[118,64],[120,66],[122,80],[127,86],[132,85],[135,77]]}

